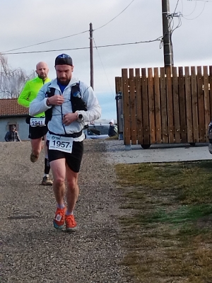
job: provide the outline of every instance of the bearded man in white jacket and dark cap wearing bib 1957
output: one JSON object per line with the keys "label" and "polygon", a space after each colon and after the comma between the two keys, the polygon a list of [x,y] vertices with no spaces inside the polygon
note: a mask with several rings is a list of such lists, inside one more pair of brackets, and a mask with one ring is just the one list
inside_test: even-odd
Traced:
{"label": "bearded man in white jacket and dark cap wearing bib 1957", "polygon": [[[85,122],[98,120],[101,108],[93,88],[72,76],[73,62],[68,54],[55,59],[57,78],[43,86],[30,104],[30,115],[50,110],[47,144],[57,202],[54,228],[72,232],[77,228],[73,210],[78,200],[78,173],[83,158]],[[54,95],[52,91],[54,89]],[[66,203],[64,202],[65,189]]]}

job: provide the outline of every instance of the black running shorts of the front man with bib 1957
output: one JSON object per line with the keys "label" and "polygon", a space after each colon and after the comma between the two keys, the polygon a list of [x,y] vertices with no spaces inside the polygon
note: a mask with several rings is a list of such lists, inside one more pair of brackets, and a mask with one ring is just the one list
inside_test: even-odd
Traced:
{"label": "black running shorts of the front man with bib 1957", "polygon": [[[48,141],[47,141],[47,146],[48,146]],[[83,141],[73,141],[71,154],[68,154],[67,152],[64,151],[48,149],[48,158],[49,158],[49,162],[57,159],[65,158],[69,168],[73,172],[78,173],[80,171],[81,161],[83,158]]]}

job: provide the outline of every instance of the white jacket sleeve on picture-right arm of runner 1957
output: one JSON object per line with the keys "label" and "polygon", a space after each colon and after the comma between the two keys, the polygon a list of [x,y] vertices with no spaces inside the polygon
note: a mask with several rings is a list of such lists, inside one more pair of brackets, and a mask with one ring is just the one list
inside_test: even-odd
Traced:
{"label": "white jacket sleeve on picture-right arm of runner 1957", "polygon": [[76,112],[83,115],[83,122],[98,120],[101,117],[102,109],[100,108],[98,98],[95,96],[93,88],[91,86],[86,86],[84,83],[80,84],[80,88],[81,96],[86,103],[87,111],[77,110]]}

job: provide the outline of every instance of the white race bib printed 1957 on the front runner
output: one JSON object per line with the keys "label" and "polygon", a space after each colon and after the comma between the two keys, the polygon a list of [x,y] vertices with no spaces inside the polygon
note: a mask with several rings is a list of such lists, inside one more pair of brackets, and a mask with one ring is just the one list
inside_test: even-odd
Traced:
{"label": "white race bib printed 1957 on the front runner", "polygon": [[71,137],[59,137],[54,134],[50,134],[49,137],[49,149],[59,150],[71,154],[73,146],[73,138]]}

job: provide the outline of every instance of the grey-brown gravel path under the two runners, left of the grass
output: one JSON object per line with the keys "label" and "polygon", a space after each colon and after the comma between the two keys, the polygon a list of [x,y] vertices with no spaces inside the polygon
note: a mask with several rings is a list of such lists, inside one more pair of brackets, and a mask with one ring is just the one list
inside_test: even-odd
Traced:
{"label": "grey-brown gravel path under the two runners, left of the grass", "polygon": [[85,141],[76,204],[76,233],[53,228],[52,187],[40,185],[42,151],[30,163],[30,142],[0,143],[0,282],[134,282],[126,267],[117,221],[123,212],[104,141]]}

